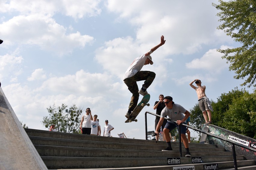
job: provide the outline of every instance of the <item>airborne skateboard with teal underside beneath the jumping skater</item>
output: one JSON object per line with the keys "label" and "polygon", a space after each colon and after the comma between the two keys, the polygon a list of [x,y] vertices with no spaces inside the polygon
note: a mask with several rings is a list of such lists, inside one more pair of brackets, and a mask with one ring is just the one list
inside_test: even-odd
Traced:
{"label": "airborne skateboard with teal underside beneath the jumping skater", "polygon": [[146,94],[145,96],[143,96],[141,102],[139,102],[136,108],[134,108],[134,110],[132,111],[132,113],[130,114],[130,116],[125,122],[126,123],[133,122],[133,121],[137,122],[138,120],[136,119],[136,117],[138,116],[140,111],[142,111],[145,105],[149,106],[149,103],[148,103],[149,99],[150,99],[150,94]]}

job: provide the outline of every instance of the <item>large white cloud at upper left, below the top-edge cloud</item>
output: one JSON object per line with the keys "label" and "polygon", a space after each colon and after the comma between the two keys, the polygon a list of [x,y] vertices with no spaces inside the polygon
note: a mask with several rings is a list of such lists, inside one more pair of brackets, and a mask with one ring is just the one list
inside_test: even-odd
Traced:
{"label": "large white cloud at upper left, below the top-edge cloud", "polygon": [[5,44],[38,45],[60,56],[93,42],[93,37],[78,31],[67,34],[66,28],[54,19],[38,14],[13,17],[0,24],[0,30]]}

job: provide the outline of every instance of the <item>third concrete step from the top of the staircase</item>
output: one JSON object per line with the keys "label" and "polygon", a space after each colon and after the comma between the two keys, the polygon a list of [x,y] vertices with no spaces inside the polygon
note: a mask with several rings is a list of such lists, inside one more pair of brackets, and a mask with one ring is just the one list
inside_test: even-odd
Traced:
{"label": "third concrete step from the top of the staircase", "polygon": [[[81,148],[64,146],[35,145],[40,156],[56,157],[179,157],[179,151],[145,151],[124,149]],[[192,157],[202,156],[232,156],[232,152],[223,151],[190,151]],[[185,152],[182,152],[183,157]]]}

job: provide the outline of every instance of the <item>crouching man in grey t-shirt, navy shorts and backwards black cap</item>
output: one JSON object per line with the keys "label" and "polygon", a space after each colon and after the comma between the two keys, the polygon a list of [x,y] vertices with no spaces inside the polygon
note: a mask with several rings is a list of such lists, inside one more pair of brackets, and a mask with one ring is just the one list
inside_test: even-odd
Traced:
{"label": "crouching man in grey t-shirt, navy shorts and backwards black cap", "polygon": [[[163,133],[164,133],[165,140],[167,143],[167,148],[162,151],[172,151],[171,138],[169,136],[169,132],[175,128],[178,128],[178,125],[180,125],[181,123],[186,124],[186,120],[190,116],[190,113],[186,109],[184,109],[181,105],[175,104],[172,101],[172,97],[170,97],[170,96],[164,97],[163,102],[166,107],[163,108],[163,110],[161,112],[161,117],[157,124],[155,133],[157,135],[159,135],[158,131],[159,131],[161,125],[163,124],[163,120],[166,115],[169,117],[169,119],[177,121],[176,123],[172,122],[172,121],[168,121],[163,129]],[[181,138],[183,140],[183,144],[186,149],[185,156],[191,157],[191,154],[188,149],[188,141],[187,141],[187,137],[186,137],[186,131],[187,131],[187,127],[181,125]]]}

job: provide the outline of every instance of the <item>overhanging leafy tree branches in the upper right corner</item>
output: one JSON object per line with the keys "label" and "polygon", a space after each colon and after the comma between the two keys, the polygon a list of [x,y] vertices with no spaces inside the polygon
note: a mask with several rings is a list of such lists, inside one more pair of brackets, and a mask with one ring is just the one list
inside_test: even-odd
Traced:
{"label": "overhanging leafy tree branches in the upper right corner", "polygon": [[256,87],[256,1],[255,0],[219,0],[212,5],[221,12],[217,13],[222,24],[217,28],[241,43],[241,47],[218,49],[224,53],[222,59],[230,62],[229,70],[235,71],[235,79],[245,79],[242,86]]}

